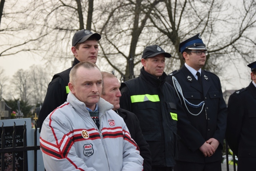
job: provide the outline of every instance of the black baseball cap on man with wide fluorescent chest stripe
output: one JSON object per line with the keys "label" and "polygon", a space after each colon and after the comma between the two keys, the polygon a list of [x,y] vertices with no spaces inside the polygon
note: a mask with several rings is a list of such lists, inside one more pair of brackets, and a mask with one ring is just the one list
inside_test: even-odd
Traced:
{"label": "black baseball cap on man with wide fluorescent chest stripe", "polygon": [[171,54],[165,52],[160,46],[158,45],[150,45],[145,47],[143,54],[142,54],[142,58],[150,58],[150,57],[154,57],[156,55],[159,54],[164,54],[166,58],[170,58]]}

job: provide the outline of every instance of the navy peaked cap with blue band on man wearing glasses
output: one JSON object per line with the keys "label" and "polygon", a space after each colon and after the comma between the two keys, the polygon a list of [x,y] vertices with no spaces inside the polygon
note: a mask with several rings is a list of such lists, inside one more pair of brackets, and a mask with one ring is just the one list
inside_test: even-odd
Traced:
{"label": "navy peaked cap with blue band on man wearing glasses", "polygon": [[186,49],[208,50],[202,41],[200,33],[180,43],[179,52],[183,53]]}

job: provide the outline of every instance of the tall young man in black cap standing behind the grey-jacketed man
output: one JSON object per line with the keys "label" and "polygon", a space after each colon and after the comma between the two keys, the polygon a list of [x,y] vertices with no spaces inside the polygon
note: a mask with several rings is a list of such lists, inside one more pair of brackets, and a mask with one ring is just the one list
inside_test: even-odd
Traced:
{"label": "tall young man in black cap standing behind the grey-jacketed man", "polygon": [[100,34],[85,29],[79,30],[74,34],[71,47],[75,57],[73,65],[71,68],[55,74],[49,83],[42,108],[39,112],[39,132],[41,132],[43,121],[47,115],[67,101],[70,91],[68,88],[70,70],[82,61],[96,63],[99,50],[97,41],[100,39]]}

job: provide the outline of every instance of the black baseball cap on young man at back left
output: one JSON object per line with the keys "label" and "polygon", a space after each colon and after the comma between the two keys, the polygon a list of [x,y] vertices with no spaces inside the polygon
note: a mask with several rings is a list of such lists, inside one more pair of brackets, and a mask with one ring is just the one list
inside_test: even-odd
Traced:
{"label": "black baseball cap on young man at back left", "polygon": [[86,41],[91,36],[94,36],[97,41],[101,39],[101,36],[99,33],[93,33],[90,30],[82,29],[75,32],[72,39],[72,46],[75,46],[77,43],[82,43]]}

